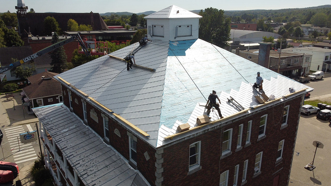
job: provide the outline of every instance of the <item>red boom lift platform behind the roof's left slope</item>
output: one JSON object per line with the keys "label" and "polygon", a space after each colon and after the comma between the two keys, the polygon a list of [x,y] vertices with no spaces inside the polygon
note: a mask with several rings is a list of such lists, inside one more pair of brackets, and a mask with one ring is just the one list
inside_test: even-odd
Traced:
{"label": "red boom lift platform behind the roof's left slope", "polygon": [[78,53],[79,54],[85,53],[83,51],[82,44],[83,44],[83,46],[85,46],[85,48],[89,51],[89,53],[92,56],[107,54],[108,45],[107,45],[106,41],[97,41],[96,39],[85,38],[85,40],[83,40],[83,43],[78,42]]}

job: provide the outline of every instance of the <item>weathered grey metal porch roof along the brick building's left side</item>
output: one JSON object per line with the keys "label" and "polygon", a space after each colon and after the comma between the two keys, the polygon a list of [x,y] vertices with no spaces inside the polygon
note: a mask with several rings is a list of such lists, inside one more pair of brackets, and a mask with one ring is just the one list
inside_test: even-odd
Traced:
{"label": "weathered grey metal porch roof along the brick building's left side", "polygon": [[61,104],[32,109],[85,185],[149,184],[117,151]]}

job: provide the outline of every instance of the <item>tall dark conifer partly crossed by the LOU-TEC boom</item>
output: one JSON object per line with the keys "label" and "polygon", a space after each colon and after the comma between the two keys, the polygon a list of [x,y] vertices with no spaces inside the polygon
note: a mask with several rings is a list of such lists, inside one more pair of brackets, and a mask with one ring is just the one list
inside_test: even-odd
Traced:
{"label": "tall dark conifer partly crossed by the LOU-TEC boom", "polygon": [[[52,44],[59,42],[59,35],[57,32],[54,32],[52,36]],[[61,73],[66,69],[67,66],[67,55],[65,53],[65,50],[63,46],[53,50],[51,52],[51,66],[52,67],[52,72],[55,73]]]}

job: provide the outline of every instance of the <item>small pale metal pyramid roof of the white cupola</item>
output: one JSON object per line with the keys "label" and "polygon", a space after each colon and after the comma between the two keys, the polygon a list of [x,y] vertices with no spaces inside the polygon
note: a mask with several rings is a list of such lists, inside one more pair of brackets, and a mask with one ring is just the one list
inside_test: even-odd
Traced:
{"label": "small pale metal pyramid roof of the white cupola", "polygon": [[145,19],[167,19],[167,18],[202,18],[198,14],[194,14],[185,9],[171,5],[165,9],[150,14]]}

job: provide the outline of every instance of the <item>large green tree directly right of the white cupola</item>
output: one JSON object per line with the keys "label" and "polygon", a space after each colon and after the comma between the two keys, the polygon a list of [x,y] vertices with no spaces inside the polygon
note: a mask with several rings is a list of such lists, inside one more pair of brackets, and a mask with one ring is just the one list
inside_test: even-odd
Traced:
{"label": "large green tree directly right of the white cupola", "polygon": [[230,18],[224,17],[224,11],[216,8],[201,10],[199,38],[222,47],[230,40]]}

